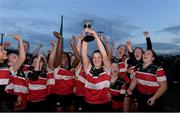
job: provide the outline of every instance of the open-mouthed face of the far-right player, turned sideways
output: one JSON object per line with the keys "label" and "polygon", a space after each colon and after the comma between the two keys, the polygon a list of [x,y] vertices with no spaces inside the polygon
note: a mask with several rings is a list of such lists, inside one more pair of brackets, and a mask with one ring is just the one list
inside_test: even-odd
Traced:
{"label": "open-mouthed face of the far-right player, turned sideways", "polygon": [[147,50],[143,54],[143,62],[144,63],[151,63],[155,59],[153,52],[151,50]]}

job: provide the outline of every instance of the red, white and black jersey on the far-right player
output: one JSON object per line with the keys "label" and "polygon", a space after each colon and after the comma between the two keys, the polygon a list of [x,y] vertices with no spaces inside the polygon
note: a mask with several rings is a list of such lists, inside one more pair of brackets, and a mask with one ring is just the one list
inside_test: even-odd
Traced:
{"label": "red, white and black jersey on the far-right player", "polygon": [[161,81],[166,81],[166,75],[163,68],[159,68],[153,64],[145,69],[143,66],[137,66],[135,71],[135,78],[137,79],[137,88],[143,94],[154,94],[159,88]]}

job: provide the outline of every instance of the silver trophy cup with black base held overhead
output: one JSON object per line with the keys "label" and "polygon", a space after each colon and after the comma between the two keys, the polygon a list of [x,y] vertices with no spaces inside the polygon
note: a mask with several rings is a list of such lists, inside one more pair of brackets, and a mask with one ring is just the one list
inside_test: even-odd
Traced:
{"label": "silver trophy cup with black base held overhead", "polygon": [[[93,24],[93,20],[87,19],[87,20],[83,21],[84,29],[85,28],[91,28],[92,24]],[[88,33],[88,32],[84,32],[83,35],[84,35],[84,39],[83,40],[85,42],[91,42],[91,41],[94,40],[94,37],[90,33]]]}

